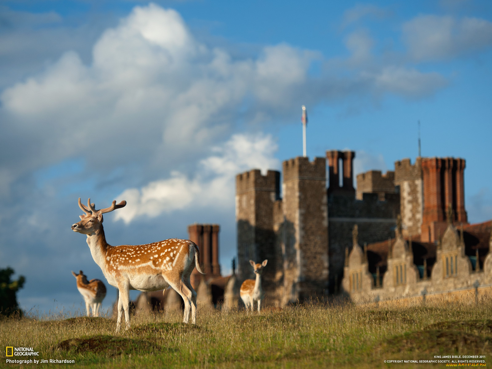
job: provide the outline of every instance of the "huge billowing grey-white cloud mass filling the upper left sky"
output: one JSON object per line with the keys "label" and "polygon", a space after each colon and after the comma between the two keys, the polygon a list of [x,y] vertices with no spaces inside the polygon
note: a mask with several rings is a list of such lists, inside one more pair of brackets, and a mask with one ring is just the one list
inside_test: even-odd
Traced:
{"label": "huge billowing grey-white cloud mass filling the upper left sky", "polygon": [[101,35],[92,64],[66,52],[1,93],[1,156],[19,137],[29,147],[2,164],[20,175],[83,155],[96,171],[142,159],[172,169],[167,158],[179,165],[232,133],[241,108],[246,122],[285,115],[307,88],[309,61],[286,44],[233,60],[199,44],[176,11],[137,6]]}

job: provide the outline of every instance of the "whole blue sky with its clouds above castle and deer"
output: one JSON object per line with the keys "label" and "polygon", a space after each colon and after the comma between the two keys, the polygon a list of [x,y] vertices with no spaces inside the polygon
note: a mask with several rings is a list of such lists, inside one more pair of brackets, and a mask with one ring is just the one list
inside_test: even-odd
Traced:
{"label": "whole blue sky with its clouds above castle and deer", "polygon": [[[77,199],[106,207],[112,245],[221,225],[236,253],[234,176],[302,154],[355,171],[466,159],[471,222],[492,218],[490,1],[3,1],[0,267],[32,311],[81,307],[101,278]],[[104,306],[116,290],[109,289]]]}

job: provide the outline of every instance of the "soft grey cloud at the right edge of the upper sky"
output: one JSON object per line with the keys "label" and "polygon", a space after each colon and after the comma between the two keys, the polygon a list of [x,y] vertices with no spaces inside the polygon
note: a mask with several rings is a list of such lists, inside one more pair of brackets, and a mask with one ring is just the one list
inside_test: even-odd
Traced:
{"label": "soft grey cloud at the right edge of the upper sky", "polygon": [[416,61],[448,59],[492,45],[492,23],[479,18],[420,15],[403,24],[402,31]]}

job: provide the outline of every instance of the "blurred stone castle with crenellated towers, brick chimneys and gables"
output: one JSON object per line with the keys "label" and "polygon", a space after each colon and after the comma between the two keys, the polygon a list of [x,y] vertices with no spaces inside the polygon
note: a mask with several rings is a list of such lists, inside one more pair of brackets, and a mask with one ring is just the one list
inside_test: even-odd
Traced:
{"label": "blurred stone castle with crenellated towers, brick chimneys and gables", "polygon": [[284,161],[282,198],[279,172],[237,175],[240,280],[252,277],[249,259],[268,259],[264,290],[276,306],[338,294],[392,299],[421,288],[468,288],[473,278],[488,283],[470,277],[481,265],[484,276],[492,268],[492,256],[486,261],[491,222],[468,225],[464,159],[403,159],[395,171],[359,174],[356,190],[354,157],[332,150],[312,162]]}

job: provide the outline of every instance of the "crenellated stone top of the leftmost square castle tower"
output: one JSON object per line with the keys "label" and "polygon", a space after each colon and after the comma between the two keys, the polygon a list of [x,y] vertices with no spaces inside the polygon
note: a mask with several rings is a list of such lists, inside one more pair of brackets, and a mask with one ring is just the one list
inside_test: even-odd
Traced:
{"label": "crenellated stone top of the leftmost square castle tower", "polygon": [[236,176],[236,195],[251,191],[272,191],[280,196],[280,172],[269,170],[266,176],[259,169],[252,169]]}

